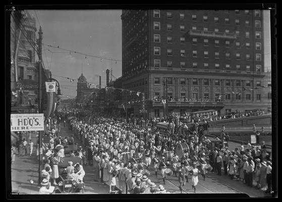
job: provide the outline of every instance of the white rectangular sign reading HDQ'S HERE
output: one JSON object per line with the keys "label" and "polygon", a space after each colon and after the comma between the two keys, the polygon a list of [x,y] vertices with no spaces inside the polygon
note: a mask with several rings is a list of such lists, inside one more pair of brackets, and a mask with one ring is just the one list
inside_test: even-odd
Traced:
{"label": "white rectangular sign reading HDQ'S HERE", "polygon": [[11,114],[11,131],[44,130],[43,114]]}

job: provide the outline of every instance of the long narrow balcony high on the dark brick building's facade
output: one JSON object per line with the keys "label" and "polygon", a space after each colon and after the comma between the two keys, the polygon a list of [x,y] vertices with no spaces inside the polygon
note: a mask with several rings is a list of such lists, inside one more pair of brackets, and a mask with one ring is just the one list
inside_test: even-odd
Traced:
{"label": "long narrow balcony high on the dark brick building's facade", "polygon": [[236,39],[235,33],[215,32],[215,31],[201,31],[201,30],[190,30],[188,32],[191,36],[203,36],[213,38],[225,38],[225,39]]}

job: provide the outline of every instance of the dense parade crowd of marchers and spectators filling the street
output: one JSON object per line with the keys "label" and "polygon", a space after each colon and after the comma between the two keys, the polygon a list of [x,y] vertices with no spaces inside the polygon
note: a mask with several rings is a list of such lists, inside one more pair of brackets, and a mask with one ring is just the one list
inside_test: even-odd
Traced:
{"label": "dense parade crowd of marchers and spectators filling the street", "polygon": [[[240,148],[229,150],[224,142],[224,126],[220,130],[224,137],[221,144],[213,144],[204,132],[208,119],[199,125],[196,124],[199,120],[193,118],[195,127],[189,130],[182,124],[180,116],[171,116],[167,120],[168,129],[164,131],[156,127],[158,122],[165,121],[163,119],[98,117],[81,109],[61,111],[58,120],[70,127],[81,144],[71,156],[80,157],[82,165],[73,166],[69,162],[68,176],[83,180],[83,165],[93,165],[93,180],[107,184],[110,193],[168,193],[164,188],[167,176],[178,178],[181,193],[191,179],[192,189],[196,192],[198,176],[205,180],[209,172],[223,173],[231,180],[271,191],[271,159],[265,144],[260,149],[248,143],[247,148],[241,144]],[[53,125],[53,131],[46,134],[51,135],[42,171],[48,179],[42,183],[49,185],[50,179],[55,185],[55,179],[59,178],[58,162],[64,160],[62,142],[78,144],[73,137],[59,136],[56,124]],[[181,157],[177,152],[178,144],[183,147]],[[82,175],[77,177],[77,173]],[[153,175],[160,176],[163,185],[152,182],[149,177]]]}

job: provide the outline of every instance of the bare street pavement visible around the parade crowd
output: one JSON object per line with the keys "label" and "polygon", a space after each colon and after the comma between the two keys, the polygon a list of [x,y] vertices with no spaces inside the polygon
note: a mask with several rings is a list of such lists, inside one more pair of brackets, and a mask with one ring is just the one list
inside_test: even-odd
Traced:
{"label": "bare street pavement visible around the parade crowd", "polygon": [[[66,126],[61,124],[61,136],[74,136],[72,131]],[[36,134],[31,134],[33,142],[36,142]],[[230,142],[230,149],[234,149],[240,146],[239,143]],[[109,187],[103,183],[95,182],[93,180],[94,170],[90,165],[83,165],[85,170],[85,191],[86,194],[108,194]],[[38,179],[38,160],[36,156],[36,150],[33,150],[32,156],[16,157],[16,161],[12,164],[12,190],[19,194],[38,194],[39,186],[37,186]],[[161,174],[158,171],[157,178],[153,166],[149,168],[151,175],[148,177],[152,182],[155,182],[157,186],[163,185]],[[34,180],[31,184],[30,179]],[[180,193],[178,177],[167,176],[165,189],[169,193]],[[191,176],[189,182],[183,187],[183,193],[194,193],[192,189]],[[246,193],[250,197],[269,197],[264,191],[256,189],[255,187],[248,187],[245,184],[231,180],[230,177],[222,175],[218,176],[215,173],[208,173],[205,181],[202,176],[199,175],[199,183],[196,187],[196,193]]]}

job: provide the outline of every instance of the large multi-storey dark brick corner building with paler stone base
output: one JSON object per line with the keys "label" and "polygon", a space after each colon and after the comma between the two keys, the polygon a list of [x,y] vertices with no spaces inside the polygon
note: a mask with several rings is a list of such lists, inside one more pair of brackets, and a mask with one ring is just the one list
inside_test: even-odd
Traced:
{"label": "large multi-storey dark brick corner building with paler stone base", "polygon": [[[145,99],[205,98],[168,103],[178,114],[271,109],[263,11],[123,10],[121,18],[123,88],[144,92]],[[130,100],[124,94],[123,101]],[[129,108],[138,115],[141,107]],[[163,116],[160,102],[146,109],[147,118]]]}

